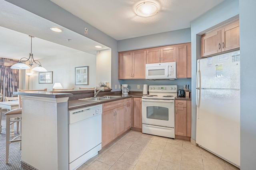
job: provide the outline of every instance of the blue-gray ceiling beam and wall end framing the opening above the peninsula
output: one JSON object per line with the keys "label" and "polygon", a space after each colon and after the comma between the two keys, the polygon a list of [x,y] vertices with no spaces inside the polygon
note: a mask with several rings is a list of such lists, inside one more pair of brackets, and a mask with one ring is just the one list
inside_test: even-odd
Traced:
{"label": "blue-gray ceiling beam and wall end framing the opening above the peninsula", "polygon": [[[46,20],[57,23],[63,27],[66,27],[82,36],[84,34],[84,28],[87,27],[90,33],[85,37],[88,37],[94,41],[97,41],[107,47],[111,48],[111,84],[119,84],[118,82],[118,52],[117,41],[106,35],[102,31],[96,29],[92,25],[86,23],[80,18],[74,16],[70,12],[64,10],[60,6],[57,6],[50,0],[6,0],[20,8],[23,8],[29,12],[32,12]],[[94,9],[97,10],[97,9]],[[100,12],[100,11],[99,11]],[[115,89],[113,89],[115,90]],[[117,89],[118,90],[118,89]]]}

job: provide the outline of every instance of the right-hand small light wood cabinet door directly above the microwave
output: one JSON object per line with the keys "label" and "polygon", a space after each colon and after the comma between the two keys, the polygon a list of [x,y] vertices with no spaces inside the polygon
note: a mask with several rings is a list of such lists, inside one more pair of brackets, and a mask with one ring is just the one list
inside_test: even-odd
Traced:
{"label": "right-hand small light wood cabinet door directly above the microwave", "polygon": [[176,61],[176,47],[167,47],[161,49],[161,63]]}

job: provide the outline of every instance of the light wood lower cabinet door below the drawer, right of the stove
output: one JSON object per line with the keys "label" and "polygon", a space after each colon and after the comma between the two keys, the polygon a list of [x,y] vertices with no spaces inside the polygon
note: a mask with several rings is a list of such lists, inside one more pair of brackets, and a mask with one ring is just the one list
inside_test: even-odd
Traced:
{"label": "light wood lower cabinet door below the drawer, right of the stove", "polygon": [[186,107],[175,108],[175,135],[186,136],[187,131]]}

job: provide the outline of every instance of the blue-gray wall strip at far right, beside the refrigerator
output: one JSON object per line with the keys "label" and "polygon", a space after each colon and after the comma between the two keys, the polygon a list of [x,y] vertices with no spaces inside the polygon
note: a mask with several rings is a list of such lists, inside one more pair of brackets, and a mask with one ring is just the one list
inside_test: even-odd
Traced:
{"label": "blue-gray wall strip at far right, beside the refrigerator", "polygon": [[256,169],[256,1],[239,0],[241,55],[241,169]]}

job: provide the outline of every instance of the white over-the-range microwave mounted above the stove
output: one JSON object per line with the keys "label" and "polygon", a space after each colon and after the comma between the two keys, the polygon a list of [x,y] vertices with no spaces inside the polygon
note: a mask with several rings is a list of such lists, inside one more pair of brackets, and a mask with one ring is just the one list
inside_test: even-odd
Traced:
{"label": "white over-the-range microwave mounted above the stove", "polygon": [[176,62],[146,64],[146,79],[177,80]]}

